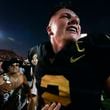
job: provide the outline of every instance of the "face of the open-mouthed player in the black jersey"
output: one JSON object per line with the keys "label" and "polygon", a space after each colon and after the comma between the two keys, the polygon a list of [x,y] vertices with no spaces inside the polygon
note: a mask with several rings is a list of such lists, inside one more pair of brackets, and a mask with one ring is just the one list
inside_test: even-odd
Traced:
{"label": "face of the open-mouthed player in the black jersey", "polygon": [[69,9],[62,8],[51,18],[48,27],[51,37],[60,40],[77,40],[80,37],[80,21],[78,16]]}

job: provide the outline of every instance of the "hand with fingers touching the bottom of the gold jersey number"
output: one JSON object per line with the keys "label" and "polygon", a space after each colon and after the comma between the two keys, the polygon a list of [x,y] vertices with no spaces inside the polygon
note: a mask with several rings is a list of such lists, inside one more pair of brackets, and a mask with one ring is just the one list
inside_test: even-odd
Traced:
{"label": "hand with fingers touching the bottom of the gold jersey number", "polygon": [[60,110],[61,104],[53,102],[51,105],[46,104],[41,110]]}

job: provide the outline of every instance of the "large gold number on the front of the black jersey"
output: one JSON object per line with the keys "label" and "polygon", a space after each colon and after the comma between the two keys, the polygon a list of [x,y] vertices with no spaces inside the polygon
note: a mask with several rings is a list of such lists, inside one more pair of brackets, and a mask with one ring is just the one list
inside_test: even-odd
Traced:
{"label": "large gold number on the front of the black jersey", "polygon": [[42,98],[45,103],[55,101],[64,106],[71,103],[69,81],[63,75],[44,75],[41,79],[41,87],[47,88],[48,85],[58,86],[59,95],[44,92]]}

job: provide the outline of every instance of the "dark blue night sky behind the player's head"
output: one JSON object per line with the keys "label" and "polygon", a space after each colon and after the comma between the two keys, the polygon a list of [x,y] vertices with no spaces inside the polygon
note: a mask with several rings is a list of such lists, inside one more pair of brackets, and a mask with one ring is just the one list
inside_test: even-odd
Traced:
{"label": "dark blue night sky behind the player's head", "polygon": [[[0,48],[26,56],[29,48],[48,40],[49,13],[63,1],[0,0]],[[71,0],[71,4],[81,19],[82,32],[109,32],[107,0]]]}

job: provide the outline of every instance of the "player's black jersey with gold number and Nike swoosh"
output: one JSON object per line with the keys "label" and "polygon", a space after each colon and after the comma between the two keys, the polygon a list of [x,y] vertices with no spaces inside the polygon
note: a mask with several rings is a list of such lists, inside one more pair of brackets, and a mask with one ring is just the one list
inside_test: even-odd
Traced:
{"label": "player's black jersey with gold number and Nike swoosh", "polygon": [[61,110],[100,109],[103,83],[110,73],[110,41],[107,36],[99,37],[89,35],[70,42],[57,54],[49,42],[38,46],[39,107],[60,102]]}

